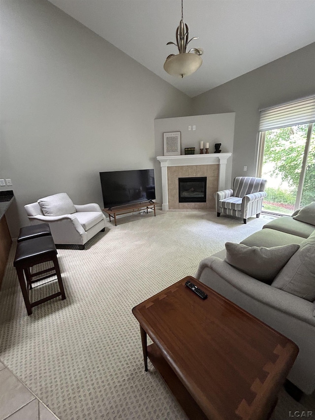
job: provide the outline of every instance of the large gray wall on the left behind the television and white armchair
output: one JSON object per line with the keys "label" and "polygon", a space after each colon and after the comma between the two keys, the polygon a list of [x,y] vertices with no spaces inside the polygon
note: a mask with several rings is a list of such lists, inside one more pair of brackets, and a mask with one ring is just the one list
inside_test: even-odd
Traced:
{"label": "large gray wall on the left behind the television and white armchair", "polygon": [[0,65],[12,236],[45,195],[102,205],[98,172],[154,167],[154,120],[191,114],[191,98],[45,0],[1,1]]}

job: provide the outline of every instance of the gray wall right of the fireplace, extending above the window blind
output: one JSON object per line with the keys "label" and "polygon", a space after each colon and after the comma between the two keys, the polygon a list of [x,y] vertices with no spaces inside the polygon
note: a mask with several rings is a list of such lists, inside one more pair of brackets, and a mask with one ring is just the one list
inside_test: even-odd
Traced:
{"label": "gray wall right of the fireplace, extending above the window blind", "polygon": [[[194,97],[193,113],[235,112],[232,178],[252,176],[255,175],[258,108],[314,93],[315,43]],[[247,172],[243,171],[244,165]]]}

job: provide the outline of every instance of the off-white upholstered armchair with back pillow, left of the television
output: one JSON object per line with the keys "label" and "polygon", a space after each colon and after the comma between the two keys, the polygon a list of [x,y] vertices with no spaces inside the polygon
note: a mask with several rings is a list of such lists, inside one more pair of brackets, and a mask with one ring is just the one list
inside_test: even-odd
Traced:
{"label": "off-white upholstered armchair with back pillow, left of the television", "polygon": [[24,206],[31,225],[48,223],[55,244],[75,244],[84,249],[106,219],[96,203],[75,205],[66,193],[49,195]]}

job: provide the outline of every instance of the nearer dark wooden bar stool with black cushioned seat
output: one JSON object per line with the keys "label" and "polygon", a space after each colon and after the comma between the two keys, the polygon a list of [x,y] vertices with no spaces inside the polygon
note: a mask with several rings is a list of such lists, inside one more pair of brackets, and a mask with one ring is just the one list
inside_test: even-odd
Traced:
{"label": "nearer dark wooden bar stool with black cushioned seat", "polygon": [[[47,261],[51,261],[53,263],[53,267],[31,273],[32,266]],[[40,305],[41,303],[47,302],[48,300],[54,299],[58,296],[62,296],[62,300],[65,299],[63,280],[57,259],[57,249],[52,236],[40,236],[18,242],[13,265],[17,271],[28,315],[32,314],[32,308],[34,306]],[[44,274],[42,277],[32,280],[33,277],[40,276],[42,274]],[[36,300],[35,302],[31,302],[29,294],[30,289],[32,289],[32,283],[39,282],[40,280],[53,275],[57,275],[60,291]]]}

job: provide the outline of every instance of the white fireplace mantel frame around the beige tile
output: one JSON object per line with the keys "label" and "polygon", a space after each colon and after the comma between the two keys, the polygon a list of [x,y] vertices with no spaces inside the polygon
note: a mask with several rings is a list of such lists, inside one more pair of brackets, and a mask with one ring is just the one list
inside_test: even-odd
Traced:
{"label": "white fireplace mantel frame around the beige tile", "polygon": [[167,186],[167,167],[168,166],[188,166],[188,165],[217,165],[219,164],[219,185],[218,191],[225,189],[226,162],[232,153],[209,153],[202,155],[179,155],[179,156],[158,156],[162,171],[162,210],[168,210],[168,186]]}

